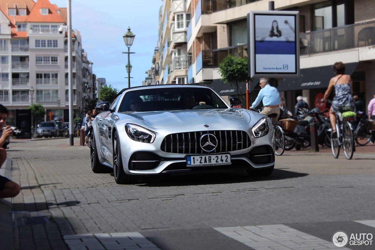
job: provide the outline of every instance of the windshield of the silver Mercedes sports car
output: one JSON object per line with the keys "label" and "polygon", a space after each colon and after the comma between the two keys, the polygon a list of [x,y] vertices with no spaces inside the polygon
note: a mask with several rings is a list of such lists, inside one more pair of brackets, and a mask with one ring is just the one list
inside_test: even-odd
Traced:
{"label": "windshield of the silver Mercedes sports car", "polygon": [[154,88],[126,93],[118,112],[228,108],[211,89]]}

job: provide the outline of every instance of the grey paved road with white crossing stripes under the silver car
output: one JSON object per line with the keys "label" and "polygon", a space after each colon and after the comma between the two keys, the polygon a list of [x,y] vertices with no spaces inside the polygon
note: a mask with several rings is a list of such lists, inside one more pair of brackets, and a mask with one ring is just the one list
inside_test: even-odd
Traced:
{"label": "grey paved road with white crossing stripes under the silver car", "polygon": [[267,178],[234,172],[133,185],[117,185],[111,170],[93,173],[89,148],[69,139],[9,147],[21,184],[15,249],[335,249],[336,231],[375,234],[375,145],[350,161],[329,149],[285,152]]}

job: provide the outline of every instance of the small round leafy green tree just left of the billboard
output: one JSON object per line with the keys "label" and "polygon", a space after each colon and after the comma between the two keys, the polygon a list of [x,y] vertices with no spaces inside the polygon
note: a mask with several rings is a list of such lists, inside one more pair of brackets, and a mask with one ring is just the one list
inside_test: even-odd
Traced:
{"label": "small round leafy green tree just left of the billboard", "polygon": [[233,85],[237,87],[239,95],[239,83],[248,80],[248,59],[228,54],[219,65],[219,73],[225,84],[231,88]]}

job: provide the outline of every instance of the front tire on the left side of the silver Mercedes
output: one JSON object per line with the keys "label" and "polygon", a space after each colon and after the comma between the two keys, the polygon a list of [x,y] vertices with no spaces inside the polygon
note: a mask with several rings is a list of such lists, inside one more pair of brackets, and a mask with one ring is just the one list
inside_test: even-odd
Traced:
{"label": "front tire on the left side of the silver Mercedes", "polygon": [[113,139],[113,175],[117,184],[131,184],[134,181],[134,176],[127,175],[124,172],[121,144],[117,131]]}

